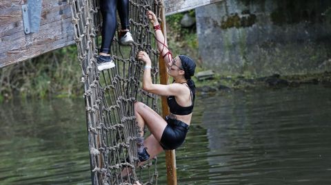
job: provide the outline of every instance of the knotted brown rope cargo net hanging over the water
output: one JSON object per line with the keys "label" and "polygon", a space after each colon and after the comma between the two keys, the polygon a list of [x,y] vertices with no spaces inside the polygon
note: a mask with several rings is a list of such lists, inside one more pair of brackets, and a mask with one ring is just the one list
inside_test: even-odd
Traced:
{"label": "knotted brown rope cargo net hanging over the water", "polygon": [[[159,112],[157,96],[141,89],[143,63],[136,56],[141,50],[149,54],[154,66],[152,80],[157,83],[159,52],[146,11],[152,10],[160,17],[162,1],[130,0],[130,32],[134,43],[121,46],[115,35],[111,55],[116,67],[102,72],[98,72],[94,57],[101,30],[99,1],[68,0],[68,3],[83,74],[92,184],[133,184],[137,180],[141,184],[157,184],[156,158],[137,168],[134,102],[139,100]],[[117,22],[120,28],[120,21]]]}

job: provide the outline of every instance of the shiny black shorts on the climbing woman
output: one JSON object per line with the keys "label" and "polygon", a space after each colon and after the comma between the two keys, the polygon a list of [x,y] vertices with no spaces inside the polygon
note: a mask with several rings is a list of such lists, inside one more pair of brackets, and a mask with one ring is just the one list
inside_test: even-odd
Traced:
{"label": "shiny black shorts on the climbing woman", "polygon": [[164,150],[177,149],[183,144],[189,126],[185,122],[171,119],[168,116],[165,117],[165,121],[168,125],[162,133],[160,144]]}

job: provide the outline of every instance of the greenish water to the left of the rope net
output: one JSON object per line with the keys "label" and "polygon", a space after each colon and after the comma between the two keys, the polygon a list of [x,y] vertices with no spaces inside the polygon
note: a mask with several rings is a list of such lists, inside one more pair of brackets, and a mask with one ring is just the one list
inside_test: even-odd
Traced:
{"label": "greenish water to the left of the rope net", "polygon": [[0,184],[90,184],[83,107],[83,100],[1,105]]}

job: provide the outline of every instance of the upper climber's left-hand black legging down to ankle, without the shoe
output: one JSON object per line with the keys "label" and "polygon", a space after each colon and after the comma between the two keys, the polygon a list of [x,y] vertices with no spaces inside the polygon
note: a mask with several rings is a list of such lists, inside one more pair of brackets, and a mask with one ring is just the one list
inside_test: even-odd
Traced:
{"label": "upper climber's left-hand black legging down to ankle, without the shoe", "polygon": [[109,55],[112,39],[117,27],[116,8],[117,0],[101,0],[101,14],[102,14],[102,43],[100,54]]}

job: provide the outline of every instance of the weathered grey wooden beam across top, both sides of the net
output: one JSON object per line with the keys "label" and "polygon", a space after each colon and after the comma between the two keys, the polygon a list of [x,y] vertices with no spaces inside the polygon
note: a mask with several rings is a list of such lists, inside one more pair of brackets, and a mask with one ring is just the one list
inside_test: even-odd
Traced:
{"label": "weathered grey wooden beam across top, both sides of the net", "polygon": [[[164,0],[165,14],[217,1],[223,0]],[[74,43],[71,10],[66,0],[43,0],[40,30],[30,34],[23,31],[23,4],[21,0],[0,1],[0,68]]]}

